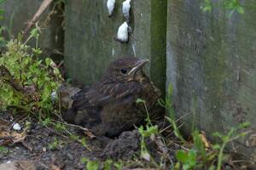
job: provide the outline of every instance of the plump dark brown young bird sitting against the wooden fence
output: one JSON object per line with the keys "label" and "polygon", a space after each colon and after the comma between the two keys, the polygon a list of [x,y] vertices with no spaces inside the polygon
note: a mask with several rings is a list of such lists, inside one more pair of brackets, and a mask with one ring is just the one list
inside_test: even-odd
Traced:
{"label": "plump dark brown young bird sitting against the wooden fence", "polygon": [[140,125],[147,118],[146,102],[151,120],[162,117],[159,112],[160,90],[143,72],[148,59],[122,58],[113,61],[105,75],[90,88],[73,96],[73,105],[64,120],[88,127],[98,136],[116,136]]}

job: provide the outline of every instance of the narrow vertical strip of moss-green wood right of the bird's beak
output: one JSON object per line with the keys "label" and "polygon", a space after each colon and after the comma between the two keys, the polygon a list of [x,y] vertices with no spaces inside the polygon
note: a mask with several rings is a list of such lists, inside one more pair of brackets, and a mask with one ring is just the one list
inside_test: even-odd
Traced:
{"label": "narrow vertical strip of moss-green wood right of the bird's beak", "polygon": [[162,93],[166,91],[167,0],[151,0],[150,76]]}

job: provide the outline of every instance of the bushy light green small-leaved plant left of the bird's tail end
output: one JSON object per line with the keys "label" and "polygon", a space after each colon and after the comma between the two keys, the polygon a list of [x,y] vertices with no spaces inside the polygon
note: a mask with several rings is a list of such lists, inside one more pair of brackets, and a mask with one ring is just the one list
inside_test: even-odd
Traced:
{"label": "bushy light green small-leaved plant left of the bird's tail end", "polygon": [[[31,37],[38,38],[36,31]],[[41,53],[40,48],[30,48],[20,39],[7,43],[0,65],[8,69],[11,78],[0,77],[0,109],[13,106],[28,112],[53,111],[57,98],[53,99],[52,94],[61,84],[61,74],[52,59],[38,59]],[[23,91],[15,89],[14,82]]]}

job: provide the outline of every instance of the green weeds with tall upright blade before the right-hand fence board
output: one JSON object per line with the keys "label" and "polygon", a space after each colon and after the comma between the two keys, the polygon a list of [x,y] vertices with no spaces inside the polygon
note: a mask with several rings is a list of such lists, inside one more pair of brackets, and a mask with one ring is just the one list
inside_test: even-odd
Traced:
{"label": "green weeds with tall upright blade before the right-hand fence board", "polygon": [[[166,100],[160,100],[160,105],[166,108],[169,113],[169,117],[166,119],[171,123],[173,132],[177,139],[180,139],[184,146],[187,146],[187,150],[177,150],[176,158],[177,163],[175,165],[176,169],[180,168],[182,165],[183,170],[188,169],[221,169],[222,161],[224,160],[224,148],[229,142],[239,139],[247,135],[247,133],[242,132],[242,129],[249,126],[249,123],[244,122],[237,127],[231,127],[230,131],[226,134],[214,133],[213,136],[221,139],[220,143],[211,144],[208,143],[206,137],[200,133],[198,130],[194,130],[191,133],[192,143],[187,142],[183,139],[177,127],[177,121],[175,119],[175,113],[172,108],[172,86],[169,86]],[[218,165],[215,167],[214,162],[218,160]]]}

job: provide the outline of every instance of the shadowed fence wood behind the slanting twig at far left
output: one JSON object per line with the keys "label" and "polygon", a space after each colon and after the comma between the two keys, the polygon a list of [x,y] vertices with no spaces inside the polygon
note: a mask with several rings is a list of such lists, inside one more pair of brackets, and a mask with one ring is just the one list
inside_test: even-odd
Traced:
{"label": "shadowed fence wood behind the slanting twig at far left", "polygon": [[[2,4],[4,13],[3,21],[1,25],[6,27],[5,37],[7,39],[15,38],[26,28],[26,24],[32,19],[32,16],[37,12],[40,4],[43,0],[7,0]],[[43,20],[46,19],[49,11],[53,8],[53,4],[40,16],[42,34],[39,37],[38,46],[43,49],[44,55],[53,57],[60,60],[63,52],[63,30],[60,10],[55,8],[55,13],[51,15],[49,22],[43,24]],[[29,42],[32,47],[35,46],[35,42]]]}

